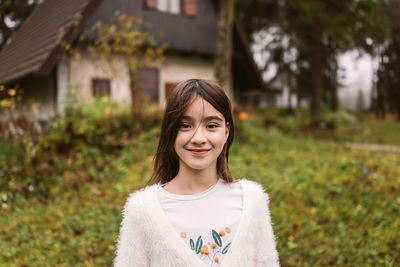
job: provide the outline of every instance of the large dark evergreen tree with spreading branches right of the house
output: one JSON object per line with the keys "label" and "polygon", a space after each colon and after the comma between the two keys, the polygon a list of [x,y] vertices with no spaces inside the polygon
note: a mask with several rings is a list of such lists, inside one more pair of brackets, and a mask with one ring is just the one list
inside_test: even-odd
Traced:
{"label": "large dark evergreen tree with spreading branches right of the house", "polygon": [[[275,43],[286,40],[286,44],[280,46],[283,56],[271,59],[283,60],[283,63],[274,63],[291,68],[297,78],[297,87],[309,85],[308,88],[297,88],[297,91],[310,97],[310,115],[317,126],[324,104],[330,104],[333,110],[338,106],[337,55],[352,49],[373,54],[375,47],[387,38],[389,28],[385,16],[379,12],[380,2],[239,0],[237,10],[241,17],[253,17],[244,20],[245,23],[255,22],[253,26],[247,26],[251,33],[271,27],[279,29],[276,32],[280,38],[274,40]],[[271,14],[268,8],[275,13],[270,18],[263,14]],[[273,44],[267,44],[265,49]],[[295,56],[287,57],[287,54]]]}

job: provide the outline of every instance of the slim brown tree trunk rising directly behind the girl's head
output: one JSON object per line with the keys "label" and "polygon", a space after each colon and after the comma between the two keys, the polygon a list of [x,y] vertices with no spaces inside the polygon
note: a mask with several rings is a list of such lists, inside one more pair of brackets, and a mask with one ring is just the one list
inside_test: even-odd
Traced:
{"label": "slim brown tree trunk rising directly behind the girl's head", "polygon": [[217,44],[215,53],[215,78],[232,100],[232,50],[233,50],[234,0],[219,1]]}

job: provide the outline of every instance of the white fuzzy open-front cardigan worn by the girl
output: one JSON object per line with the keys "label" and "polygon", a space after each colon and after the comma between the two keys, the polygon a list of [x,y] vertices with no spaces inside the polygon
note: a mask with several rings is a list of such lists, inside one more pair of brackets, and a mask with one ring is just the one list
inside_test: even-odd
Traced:
{"label": "white fuzzy open-front cardigan worn by the girl", "polygon": [[[263,187],[240,179],[243,210],[220,267],[279,266],[269,198]],[[155,184],[132,193],[123,211],[115,267],[206,267],[179,237],[162,210]]]}

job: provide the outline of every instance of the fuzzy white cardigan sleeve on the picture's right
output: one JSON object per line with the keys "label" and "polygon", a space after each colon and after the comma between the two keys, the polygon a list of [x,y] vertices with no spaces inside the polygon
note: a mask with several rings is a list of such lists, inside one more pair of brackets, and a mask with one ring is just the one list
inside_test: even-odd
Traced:
{"label": "fuzzy white cardigan sleeve on the picture's right", "polygon": [[276,241],[274,231],[272,229],[271,215],[269,211],[269,197],[260,186],[259,212],[260,225],[258,227],[259,242],[257,244],[256,266],[280,266],[279,256],[276,249]]}

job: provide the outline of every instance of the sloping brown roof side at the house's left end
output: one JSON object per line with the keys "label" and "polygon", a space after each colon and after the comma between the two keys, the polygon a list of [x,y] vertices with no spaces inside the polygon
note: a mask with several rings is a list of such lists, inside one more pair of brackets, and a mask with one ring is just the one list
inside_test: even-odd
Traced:
{"label": "sloping brown roof side at the house's left end", "polygon": [[[61,51],[59,38],[73,40],[78,34],[74,22],[83,20],[101,0],[46,0],[38,5],[0,52],[0,83],[34,73],[47,75]],[[80,16],[82,15],[82,16]]]}

